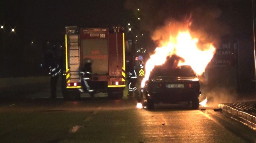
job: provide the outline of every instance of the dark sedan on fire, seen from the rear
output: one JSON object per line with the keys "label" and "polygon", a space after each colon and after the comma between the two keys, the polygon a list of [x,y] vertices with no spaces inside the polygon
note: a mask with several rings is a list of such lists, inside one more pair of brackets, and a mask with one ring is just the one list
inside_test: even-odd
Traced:
{"label": "dark sedan on fire, seen from the rear", "polygon": [[191,102],[192,109],[198,109],[200,94],[198,77],[189,65],[175,68],[155,66],[142,89],[144,103],[149,110],[159,102]]}

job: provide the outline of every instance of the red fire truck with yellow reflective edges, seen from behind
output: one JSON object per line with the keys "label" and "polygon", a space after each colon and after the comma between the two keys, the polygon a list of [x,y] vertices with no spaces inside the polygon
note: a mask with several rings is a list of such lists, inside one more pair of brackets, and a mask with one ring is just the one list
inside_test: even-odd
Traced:
{"label": "red fire truck with yellow reflective edges, seen from behind", "polygon": [[83,82],[81,69],[92,59],[91,89],[111,98],[122,98],[125,89],[125,34],[120,27],[65,27],[63,50],[62,94],[64,98],[79,98]]}

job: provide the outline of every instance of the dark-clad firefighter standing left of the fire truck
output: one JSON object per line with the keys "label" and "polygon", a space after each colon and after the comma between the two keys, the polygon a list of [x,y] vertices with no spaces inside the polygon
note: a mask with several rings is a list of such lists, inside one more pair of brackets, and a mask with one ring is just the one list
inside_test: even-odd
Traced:
{"label": "dark-clad firefighter standing left of the fire truck", "polygon": [[57,81],[62,71],[62,59],[56,52],[52,52],[52,62],[50,65],[50,75],[51,75],[51,98],[56,98],[56,88]]}

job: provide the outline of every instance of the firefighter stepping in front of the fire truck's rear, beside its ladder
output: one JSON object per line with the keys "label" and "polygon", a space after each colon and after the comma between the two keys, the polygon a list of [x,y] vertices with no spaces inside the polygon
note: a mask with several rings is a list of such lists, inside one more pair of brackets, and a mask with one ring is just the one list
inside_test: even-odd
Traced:
{"label": "firefighter stepping in front of the fire truck's rear, beside its ladder", "polygon": [[84,68],[82,70],[83,74],[83,91],[86,91],[90,93],[90,95],[93,95],[94,90],[91,89],[91,76],[92,76],[92,59],[86,59],[86,63],[84,64]]}

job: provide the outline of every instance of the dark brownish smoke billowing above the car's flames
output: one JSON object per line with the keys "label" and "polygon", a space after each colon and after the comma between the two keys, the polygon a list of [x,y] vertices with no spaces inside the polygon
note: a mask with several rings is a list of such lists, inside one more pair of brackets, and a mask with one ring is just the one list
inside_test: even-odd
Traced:
{"label": "dark brownish smoke billowing above the car's flames", "polygon": [[219,19],[222,13],[219,3],[213,0],[127,0],[126,8],[140,18],[140,30],[151,33],[158,46],[170,33],[175,34],[176,27],[182,26],[189,26],[191,35],[198,38],[199,43],[215,45],[228,32]]}

